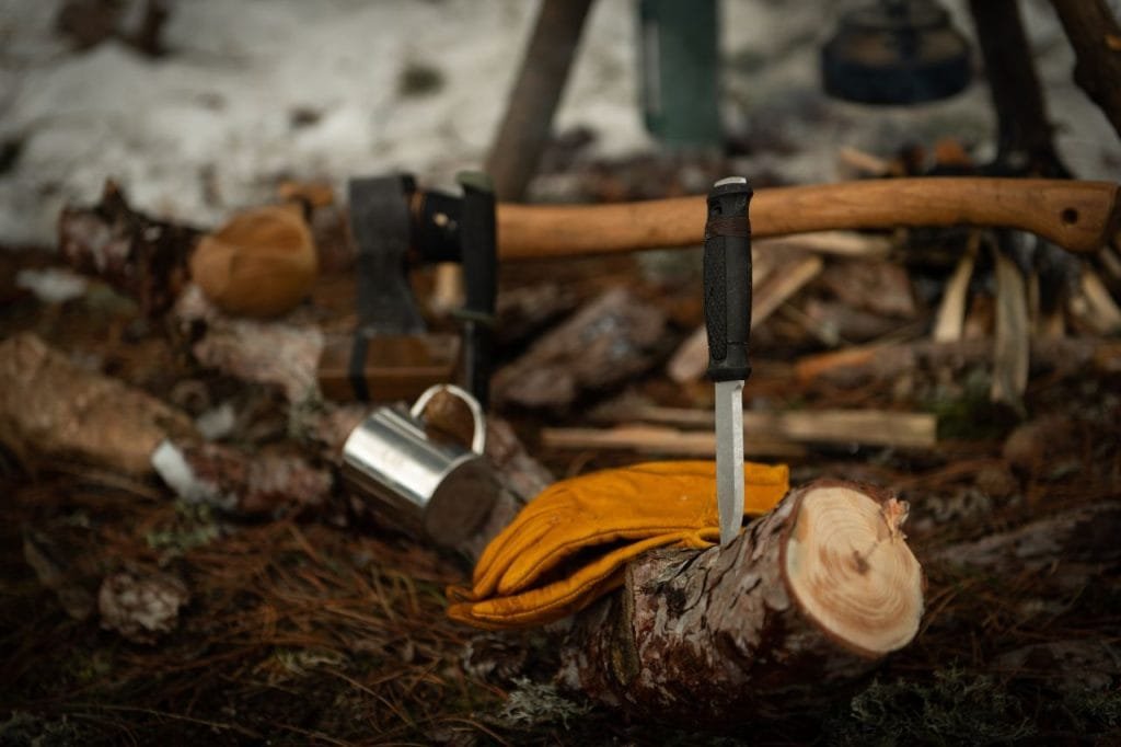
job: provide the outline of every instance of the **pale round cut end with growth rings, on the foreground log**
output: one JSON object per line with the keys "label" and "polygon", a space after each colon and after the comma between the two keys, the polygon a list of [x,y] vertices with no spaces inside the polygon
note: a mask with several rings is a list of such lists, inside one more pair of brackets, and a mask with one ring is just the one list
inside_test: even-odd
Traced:
{"label": "pale round cut end with growth rings, on the foreground log", "polygon": [[813,486],[782,559],[799,608],[831,638],[870,657],[910,643],[923,616],[923,570],[901,531],[907,502],[879,498],[867,487]]}

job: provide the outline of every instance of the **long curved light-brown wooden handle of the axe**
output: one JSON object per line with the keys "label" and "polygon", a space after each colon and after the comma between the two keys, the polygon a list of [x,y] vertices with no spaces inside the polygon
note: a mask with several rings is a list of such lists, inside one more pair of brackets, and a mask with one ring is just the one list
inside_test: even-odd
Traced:
{"label": "long curved light-brown wooden handle of the axe", "polygon": [[[756,192],[751,232],[766,238],[827,229],[992,225],[1030,231],[1069,251],[1094,251],[1117,230],[1111,182],[918,177]],[[499,259],[602,255],[704,241],[704,197],[605,205],[498,205]]]}

